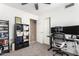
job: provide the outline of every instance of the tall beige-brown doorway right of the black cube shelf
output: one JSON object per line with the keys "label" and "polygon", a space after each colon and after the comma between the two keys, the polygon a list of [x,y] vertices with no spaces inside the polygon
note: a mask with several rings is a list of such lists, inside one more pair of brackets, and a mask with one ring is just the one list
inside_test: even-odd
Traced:
{"label": "tall beige-brown doorway right of the black cube shelf", "polygon": [[36,42],[36,25],[37,21],[30,19],[30,43]]}

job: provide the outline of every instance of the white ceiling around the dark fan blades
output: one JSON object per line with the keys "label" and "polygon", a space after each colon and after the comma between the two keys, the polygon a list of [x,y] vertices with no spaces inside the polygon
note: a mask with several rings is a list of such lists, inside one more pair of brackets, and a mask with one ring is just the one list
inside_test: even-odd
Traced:
{"label": "white ceiling around the dark fan blades", "polygon": [[8,6],[35,14],[35,15],[39,15],[40,13],[46,13],[49,12],[50,10],[53,10],[56,7],[65,5],[66,3],[51,3],[51,4],[43,4],[43,3],[38,3],[39,9],[36,10],[34,3],[28,3],[26,5],[21,5],[21,3],[5,3]]}

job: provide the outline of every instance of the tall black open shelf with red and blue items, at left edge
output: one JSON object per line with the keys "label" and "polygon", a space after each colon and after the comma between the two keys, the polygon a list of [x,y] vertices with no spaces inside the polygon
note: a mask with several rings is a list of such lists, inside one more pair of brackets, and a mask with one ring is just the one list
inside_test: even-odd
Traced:
{"label": "tall black open shelf with red and blue items, at left edge", "polygon": [[0,49],[7,53],[9,49],[9,21],[0,20]]}

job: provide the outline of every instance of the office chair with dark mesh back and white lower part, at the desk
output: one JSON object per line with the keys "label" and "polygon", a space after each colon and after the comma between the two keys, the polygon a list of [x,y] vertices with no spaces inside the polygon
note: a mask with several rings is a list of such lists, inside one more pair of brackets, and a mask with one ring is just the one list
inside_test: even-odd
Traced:
{"label": "office chair with dark mesh back and white lower part, at the desk", "polygon": [[65,40],[65,34],[61,32],[56,32],[53,34],[53,52],[56,53],[53,54],[55,56],[57,53],[61,55],[67,55],[66,53],[62,52],[62,48],[66,47],[66,40]]}

